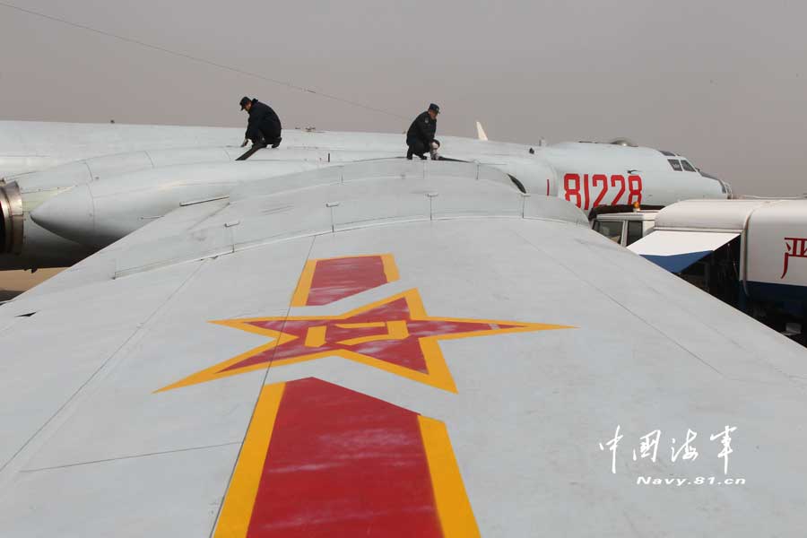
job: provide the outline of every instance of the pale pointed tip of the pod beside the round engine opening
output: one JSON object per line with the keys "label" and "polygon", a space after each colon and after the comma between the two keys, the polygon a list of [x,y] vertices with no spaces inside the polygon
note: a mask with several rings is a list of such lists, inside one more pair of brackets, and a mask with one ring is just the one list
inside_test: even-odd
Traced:
{"label": "pale pointed tip of the pod beside the round engine opening", "polygon": [[95,209],[90,187],[78,185],[41,204],[30,218],[42,228],[82,245],[91,245],[95,234]]}

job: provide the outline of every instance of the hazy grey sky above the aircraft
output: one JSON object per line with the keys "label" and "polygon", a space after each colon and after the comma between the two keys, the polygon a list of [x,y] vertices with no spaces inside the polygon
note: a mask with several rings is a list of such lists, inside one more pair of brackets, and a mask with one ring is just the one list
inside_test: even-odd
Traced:
{"label": "hazy grey sky above the aircraft", "polygon": [[438,134],[628,136],[743,194],[807,193],[803,2],[2,2],[407,118],[0,6],[6,119],[242,126],[248,94],[287,127],[403,132],[434,101]]}

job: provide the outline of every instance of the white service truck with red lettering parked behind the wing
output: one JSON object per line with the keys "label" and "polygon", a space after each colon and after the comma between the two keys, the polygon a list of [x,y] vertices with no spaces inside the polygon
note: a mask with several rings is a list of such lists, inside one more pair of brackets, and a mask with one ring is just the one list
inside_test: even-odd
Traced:
{"label": "white service truck with red lettering parked behind the wing", "polygon": [[593,228],[807,343],[807,199],[688,200],[598,215]]}

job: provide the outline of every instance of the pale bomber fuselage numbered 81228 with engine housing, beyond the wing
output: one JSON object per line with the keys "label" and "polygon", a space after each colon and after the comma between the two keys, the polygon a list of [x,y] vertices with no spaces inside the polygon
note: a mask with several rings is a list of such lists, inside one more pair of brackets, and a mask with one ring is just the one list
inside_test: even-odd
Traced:
{"label": "pale bomber fuselage numbered 81228 with engine housing, beyond the wing", "polygon": [[[397,134],[283,135],[280,148],[241,162],[243,150],[228,146],[239,139],[236,129],[0,122],[0,268],[72,265],[175,208],[227,196],[238,185],[400,158],[405,148]],[[728,184],[686,158],[624,139],[529,146],[486,138],[446,137],[445,159],[499,169],[523,194],[560,197],[586,213],[731,195]]]}

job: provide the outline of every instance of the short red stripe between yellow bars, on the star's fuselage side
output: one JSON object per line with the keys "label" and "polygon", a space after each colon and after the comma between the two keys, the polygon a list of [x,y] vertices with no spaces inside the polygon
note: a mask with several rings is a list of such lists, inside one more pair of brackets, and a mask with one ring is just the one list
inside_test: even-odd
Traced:
{"label": "short red stripe between yellow bars, on the star's fuselage side", "polygon": [[306,306],[316,307],[386,284],[381,256],[318,260]]}

